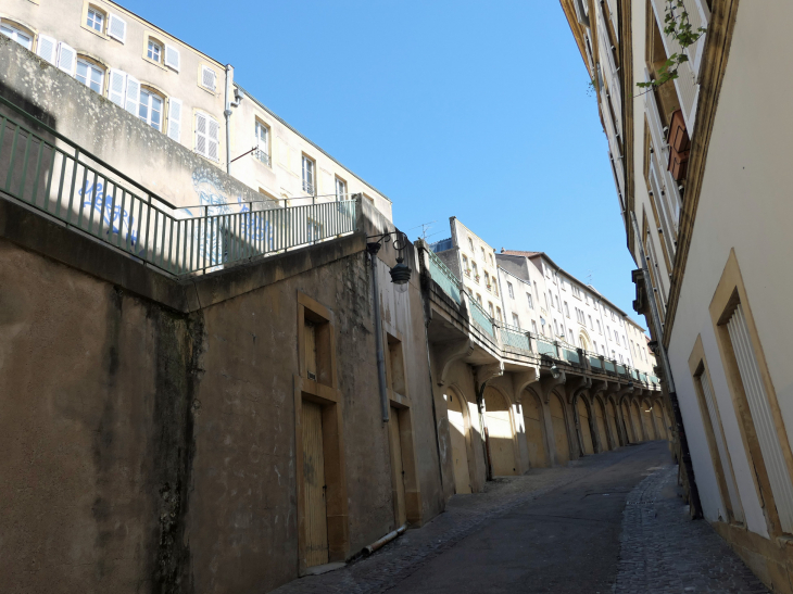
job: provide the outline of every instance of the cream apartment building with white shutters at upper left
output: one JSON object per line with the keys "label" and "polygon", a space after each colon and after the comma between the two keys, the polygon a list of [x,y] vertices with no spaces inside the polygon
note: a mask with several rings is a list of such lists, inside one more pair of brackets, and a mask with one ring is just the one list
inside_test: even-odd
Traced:
{"label": "cream apartment building with white shutters at upper left", "polygon": [[[203,180],[212,175],[163,179],[164,198],[176,206],[194,205],[196,198],[213,205],[259,200],[267,207],[294,206],[360,193],[392,218],[385,194],[250,96],[231,65],[115,2],[7,0],[0,33],[256,192],[224,195]],[[99,156],[128,165],[112,153]],[[179,181],[196,191],[167,188]]]}

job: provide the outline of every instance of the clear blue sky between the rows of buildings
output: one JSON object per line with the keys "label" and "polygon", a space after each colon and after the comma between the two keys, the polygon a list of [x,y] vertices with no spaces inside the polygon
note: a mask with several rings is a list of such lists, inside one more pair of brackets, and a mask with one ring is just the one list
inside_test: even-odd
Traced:
{"label": "clear blue sky between the rows of buildings", "polygon": [[455,215],[496,250],[547,252],[644,325],[595,98],[557,0],[122,3],[231,63],[388,195],[411,239],[432,220],[428,239],[449,237]]}

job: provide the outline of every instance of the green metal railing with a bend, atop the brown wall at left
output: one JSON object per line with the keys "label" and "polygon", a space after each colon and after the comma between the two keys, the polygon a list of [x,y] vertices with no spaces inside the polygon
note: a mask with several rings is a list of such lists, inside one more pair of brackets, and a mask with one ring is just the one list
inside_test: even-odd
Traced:
{"label": "green metal railing with a bend, atop the brown wall at left", "polygon": [[256,211],[251,203],[213,203],[194,216],[2,103],[32,126],[0,116],[0,191],[171,275],[206,273],[355,230],[353,201]]}

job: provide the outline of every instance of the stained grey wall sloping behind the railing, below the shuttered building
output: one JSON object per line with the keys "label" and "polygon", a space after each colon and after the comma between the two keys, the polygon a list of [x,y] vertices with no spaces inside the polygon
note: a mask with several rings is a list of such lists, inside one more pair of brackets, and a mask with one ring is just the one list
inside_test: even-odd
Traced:
{"label": "stained grey wall sloping behind the railing, below the shuttered building", "polygon": [[[4,36],[0,63],[0,96],[175,206],[228,204],[238,212],[239,203],[264,199]],[[2,105],[0,113],[21,119]],[[184,124],[182,135],[191,134]]]}

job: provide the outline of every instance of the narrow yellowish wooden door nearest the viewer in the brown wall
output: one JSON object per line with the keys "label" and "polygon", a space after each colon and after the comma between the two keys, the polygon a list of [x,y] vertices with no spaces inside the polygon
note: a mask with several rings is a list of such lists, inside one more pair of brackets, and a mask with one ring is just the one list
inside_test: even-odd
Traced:
{"label": "narrow yellowish wooden door nearest the viewer in the brown wall", "polygon": [[328,518],[325,505],[323,408],[303,401],[303,493],[305,497],[305,563],[328,563]]}

